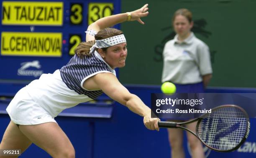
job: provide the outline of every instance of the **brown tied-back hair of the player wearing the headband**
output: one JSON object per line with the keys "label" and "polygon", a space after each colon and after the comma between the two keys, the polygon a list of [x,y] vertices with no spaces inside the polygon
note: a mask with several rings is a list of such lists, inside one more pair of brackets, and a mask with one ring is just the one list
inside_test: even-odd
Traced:
{"label": "brown tied-back hair of the player wearing the headband", "polygon": [[[96,35],[95,35],[95,40],[103,40],[106,38],[110,38],[116,35],[121,35],[123,34],[122,31],[115,29],[115,28],[105,28],[103,30],[100,30]],[[91,40],[88,42],[81,42],[77,46],[75,53],[77,54],[78,57],[84,58],[84,56],[90,55],[90,48],[92,45],[95,44],[95,40]],[[107,51],[108,48],[101,48],[103,51]],[[98,48],[95,48],[96,51],[98,51]]]}

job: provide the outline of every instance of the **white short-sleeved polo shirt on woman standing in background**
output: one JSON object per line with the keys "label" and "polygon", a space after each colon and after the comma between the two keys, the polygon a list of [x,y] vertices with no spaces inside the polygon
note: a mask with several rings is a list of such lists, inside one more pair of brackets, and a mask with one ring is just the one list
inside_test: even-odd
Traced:
{"label": "white short-sleeved polo shirt on woman standing in background", "polygon": [[178,35],[169,40],[164,46],[163,57],[163,83],[199,83],[203,75],[212,73],[209,48],[192,32],[182,42],[178,40]]}

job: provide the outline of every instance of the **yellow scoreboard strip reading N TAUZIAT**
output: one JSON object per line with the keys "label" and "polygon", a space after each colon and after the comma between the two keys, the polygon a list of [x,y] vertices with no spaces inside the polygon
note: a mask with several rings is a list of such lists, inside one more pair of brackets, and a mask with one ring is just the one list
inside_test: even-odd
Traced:
{"label": "yellow scoreboard strip reading N TAUZIAT", "polygon": [[63,2],[3,1],[2,25],[63,24]]}

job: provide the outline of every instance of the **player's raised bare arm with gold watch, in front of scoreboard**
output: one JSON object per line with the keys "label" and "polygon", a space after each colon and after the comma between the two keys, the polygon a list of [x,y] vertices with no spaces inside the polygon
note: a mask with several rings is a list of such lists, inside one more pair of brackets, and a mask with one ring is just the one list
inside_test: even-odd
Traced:
{"label": "player's raised bare arm with gold watch, in front of scoreboard", "polygon": [[[131,13],[131,17],[130,17],[131,19],[128,18],[129,13],[120,13],[120,14],[110,15],[110,16],[101,18],[95,21],[94,23],[92,23],[91,25],[89,25],[87,30],[95,30],[96,32],[98,32],[104,28],[112,27],[116,24],[123,23],[127,20],[130,20],[130,21],[137,20],[139,23],[144,24],[141,18],[148,16],[148,4],[130,13]],[[95,38],[92,35],[87,34],[86,42],[90,40],[95,40]]]}

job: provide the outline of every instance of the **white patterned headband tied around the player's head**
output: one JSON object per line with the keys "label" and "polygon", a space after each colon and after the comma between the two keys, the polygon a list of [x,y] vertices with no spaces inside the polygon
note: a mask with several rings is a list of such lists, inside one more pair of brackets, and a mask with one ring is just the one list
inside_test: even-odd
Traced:
{"label": "white patterned headband tied around the player's head", "polygon": [[[92,35],[92,36],[95,36],[97,34],[97,32],[94,30],[87,30],[85,31],[85,33],[88,33],[89,35]],[[126,39],[123,34],[106,38],[103,40],[95,40],[95,44],[92,45],[92,47],[90,48],[90,53],[92,53],[95,50],[95,48],[107,48],[107,47],[118,45],[124,42],[126,42]]]}

